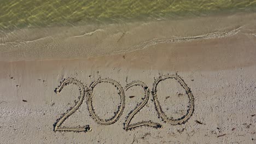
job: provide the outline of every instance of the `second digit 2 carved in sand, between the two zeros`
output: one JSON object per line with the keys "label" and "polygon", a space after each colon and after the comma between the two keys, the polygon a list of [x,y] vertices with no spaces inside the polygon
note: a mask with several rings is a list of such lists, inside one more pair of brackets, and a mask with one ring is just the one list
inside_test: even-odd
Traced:
{"label": "second digit 2 carved in sand, between the two zeros", "polygon": [[142,103],[140,103],[139,105],[136,106],[135,110],[132,110],[125,122],[125,126],[124,129],[127,130],[131,130],[137,127],[141,127],[141,126],[148,126],[148,127],[153,127],[153,128],[161,128],[161,124],[159,123],[154,123],[154,122],[138,122],[135,124],[130,124],[131,119],[136,115],[137,112],[139,112],[139,110],[141,110],[147,103],[148,103],[148,99],[149,99],[149,91],[148,91],[148,87],[146,86],[145,83],[141,82],[141,81],[133,81],[131,83],[129,83],[126,87],[125,87],[125,91],[127,91],[129,88],[133,87],[133,86],[141,86],[144,89],[144,100],[142,101]]}

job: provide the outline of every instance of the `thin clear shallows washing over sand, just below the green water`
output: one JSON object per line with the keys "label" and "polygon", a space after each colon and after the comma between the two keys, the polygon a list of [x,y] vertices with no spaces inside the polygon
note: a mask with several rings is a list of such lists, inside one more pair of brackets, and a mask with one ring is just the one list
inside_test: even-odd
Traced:
{"label": "thin clear shallows washing over sand, just below the green water", "polygon": [[[152,42],[151,46],[154,46],[154,40],[177,40],[200,35],[208,35],[208,39],[217,40],[222,37],[222,33],[225,36],[226,32],[236,30],[250,37],[250,34],[256,33],[253,17],[256,17],[256,13],[96,27],[90,25],[21,29],[3,34],[5,37],[0,40],[0,61],[79,59],[116,55],[144,49],[143,45],[149,47],[150,45],[145,45],[146,41]],[[185,43],[187,41],[189,40],[184,40]],[[177,42],[183,43],[182,40]]]}

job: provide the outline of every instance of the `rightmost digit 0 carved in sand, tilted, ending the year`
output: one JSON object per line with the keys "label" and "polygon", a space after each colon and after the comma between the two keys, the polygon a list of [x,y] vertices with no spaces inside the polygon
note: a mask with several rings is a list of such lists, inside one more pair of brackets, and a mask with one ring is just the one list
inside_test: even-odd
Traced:
{"label": "rightmost digit 0 carved in sand, tilted, ending the year", "polygon": [[[187,110],[187,114],[182,116],[181,118],[177,118],[177,119],[168,118],[165,115],[165,113],[162,111],[161,106],[159,104],[158,95],[156,93],[157,92],[157,87],[158,87],[159,82],[164,81],[166,79],[175,79],[176,81],[178,81],[178,83],[185,89],[185,91],[186,91],[186,93],[189,97],[189,104],[190,104],[188,106],[189,109]],[[193,94],[191,93],[190,88],[186,85],[186,83],[178,75],[163,75],[163,76],[160,76],[158,78],[158,80],[156,80],[154,82],[152,94],[153,94],[153,99],[154,99],[156,111],[158,111],[158,115],[162,118],[162,120],[164,122],[170,123],[172,125],[183,124],[183,123],[188,121],[188,119],[191,117],[191,115],[194,112],[194,97],[193,97]]]}

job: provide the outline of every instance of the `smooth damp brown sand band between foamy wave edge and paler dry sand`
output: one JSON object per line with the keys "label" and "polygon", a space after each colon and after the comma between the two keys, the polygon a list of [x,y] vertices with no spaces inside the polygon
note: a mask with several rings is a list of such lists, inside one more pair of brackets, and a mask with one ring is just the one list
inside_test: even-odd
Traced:
{"label": "smooth damp brown sand band between foamy wave edge and paler dry sand", "polygon": [[[105,56],[67,59],[43,59],[35,61],[0,61],[0,65],[55,65],[84,62],[86,67],[111,67],[177,71],[215,71],[255,65],[256,41],[253,35],[236,34],[221,39],[188,41],[186,43],[160,43],[147,49]],[[155,59],[157,58],[157,61]],[[4,68],[2,68],[4,69]],[[42,69],[43,70],[43,69]]]}

